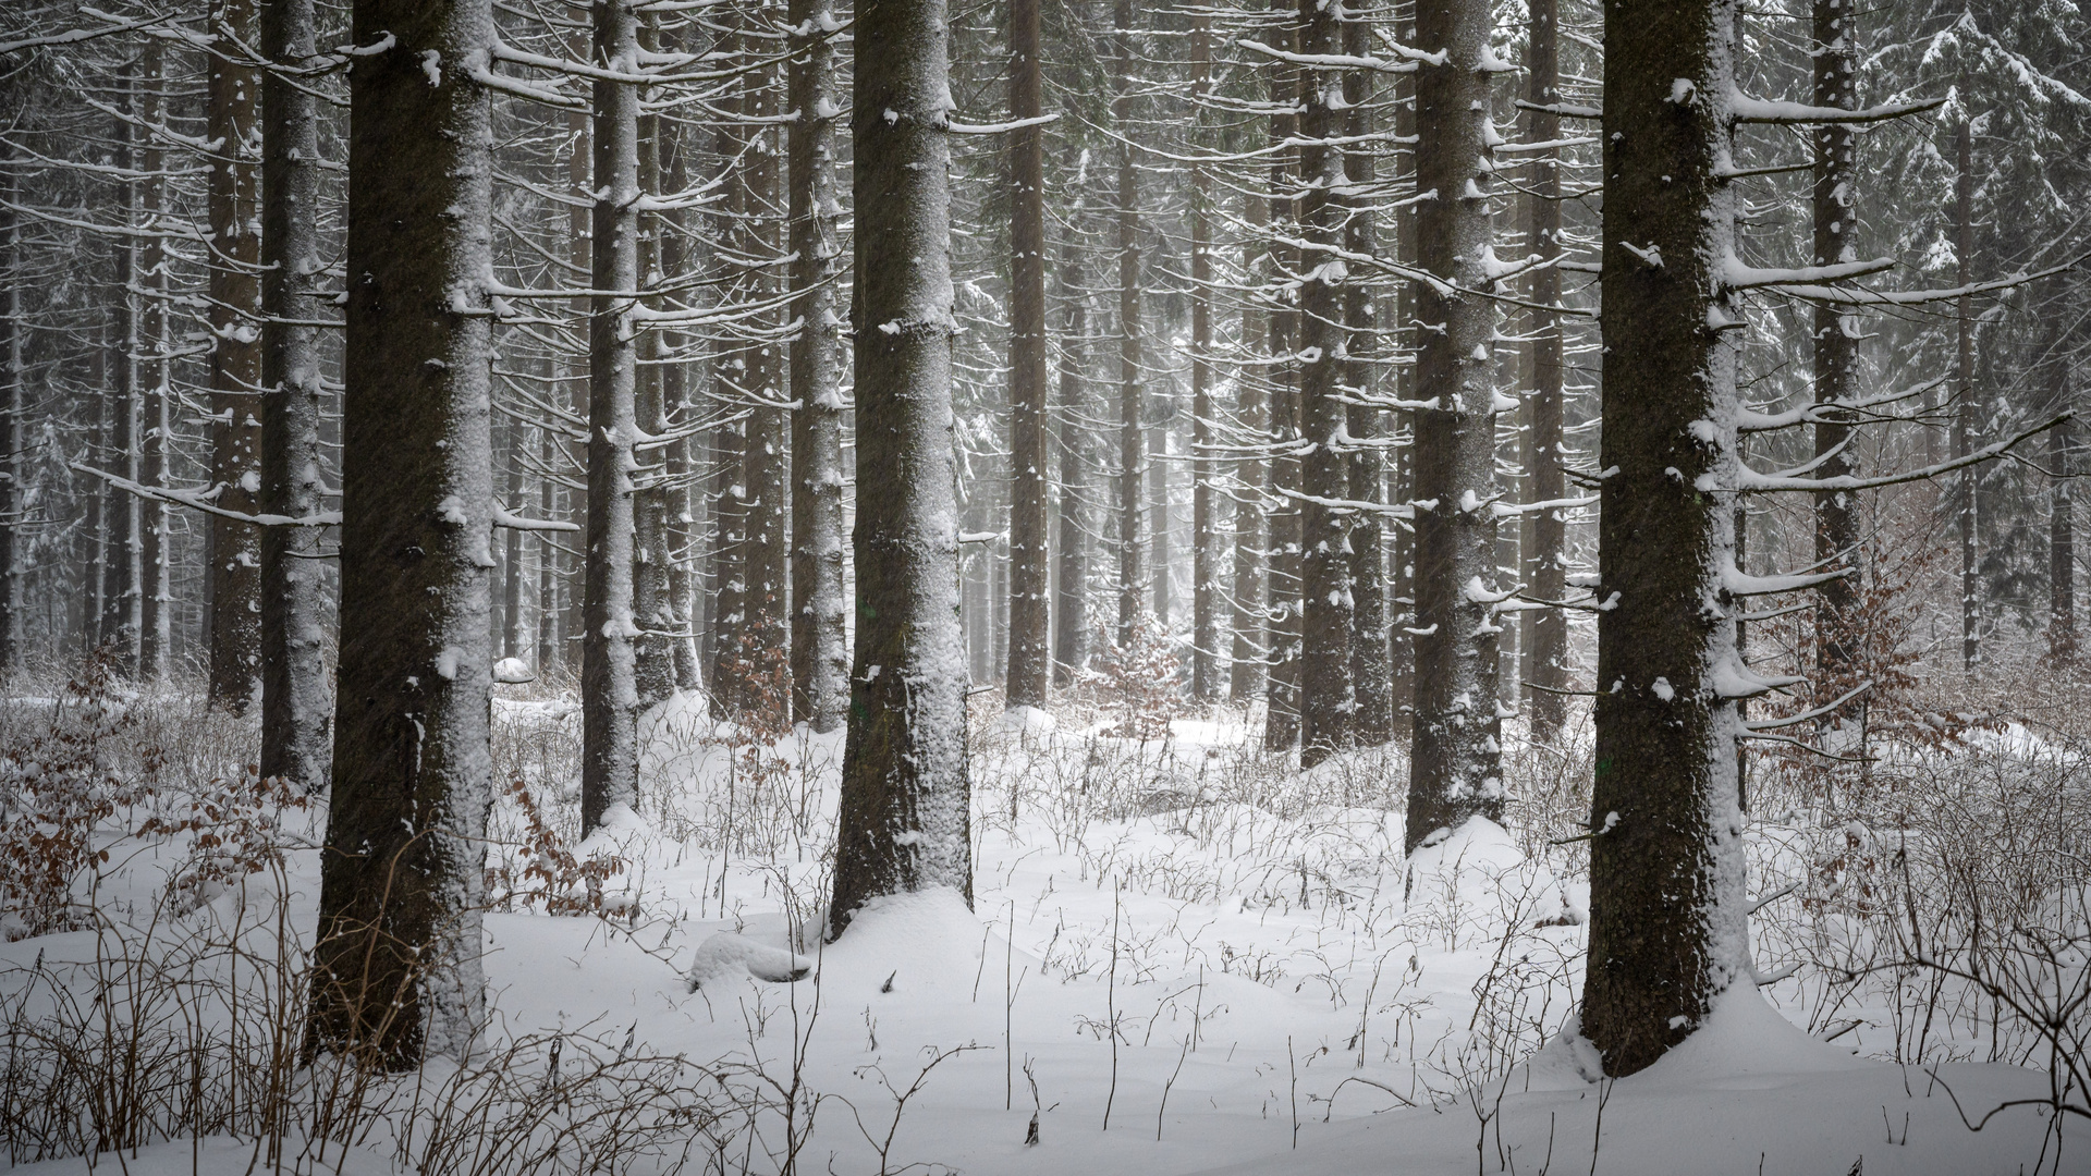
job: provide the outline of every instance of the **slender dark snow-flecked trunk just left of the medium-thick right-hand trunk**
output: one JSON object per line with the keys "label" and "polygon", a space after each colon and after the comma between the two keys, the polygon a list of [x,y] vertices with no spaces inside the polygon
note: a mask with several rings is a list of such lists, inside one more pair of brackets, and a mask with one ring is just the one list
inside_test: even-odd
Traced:
{"label": "slender dark snow-flecked trunk just left of the medium-thick right-hand trunk", "polygon": [[[1309,59],[1342,52],[1342,15],[1322,0],[1299,0],[1299,50]],[[1349,419],[1342,387],[1349,375],[1351,333],[1345,326],[1349,274],[1336,251],[1345,245],[1349,176],[1342,136],[1342,80],[1324,67],[1301,71],[1299,234],[1301,282],[1301,766],[1313,768],[1351,745],[1357,688],[1351,676],[1351,521],[1355,511],[1334,506],[1351,498]]]}

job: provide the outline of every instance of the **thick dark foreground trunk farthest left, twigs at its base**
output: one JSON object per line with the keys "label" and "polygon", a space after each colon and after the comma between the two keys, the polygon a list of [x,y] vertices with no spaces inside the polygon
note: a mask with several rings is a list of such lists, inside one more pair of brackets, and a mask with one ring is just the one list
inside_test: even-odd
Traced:
{"label": "thick dark foreground trunk farthest left, twigs at its base", "polygon": [[307,1055],[408,1069],[483,1023],[491,711],[489,0],[355,0],[341,670]]}

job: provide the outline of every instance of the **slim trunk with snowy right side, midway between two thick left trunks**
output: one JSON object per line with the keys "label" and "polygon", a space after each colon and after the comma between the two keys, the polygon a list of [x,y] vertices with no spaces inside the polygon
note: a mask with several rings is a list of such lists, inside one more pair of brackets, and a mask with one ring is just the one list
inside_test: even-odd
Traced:
{"label": "slim trunk with snowy right side, midway between two thick left trunks", "polygon": [[[636,73],[636,0],[596,4],[596,67]],[[611,806],[638,808],[638,339],[640,88],[596,82],[596,216],[588,316],[588,548],[581,624],[581,831]]]}

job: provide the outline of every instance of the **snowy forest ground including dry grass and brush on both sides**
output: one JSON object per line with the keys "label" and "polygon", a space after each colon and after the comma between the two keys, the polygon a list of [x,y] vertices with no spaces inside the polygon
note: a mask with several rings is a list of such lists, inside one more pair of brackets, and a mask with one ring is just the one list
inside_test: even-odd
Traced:
{"label": "snowy forest ground including dry grass and brush on both sides", "polygon": [[[31,718],[8,714],[13,739]],[[347,1155],[372,1172],[1834,1174],[1863,1157],[1878,1176],[2091,1159],[2083,1122],[2055,1128],[2037,1105],[2085,1103],[2051,1086],[2083,1065],[2064,1055],[2085,1030],[2062,1007],[2085,983],[2064,862],[2091,845],[2070,755],[1911,755],[1865,804],[1851,781],[1759,781],[1765,998],[1736,994],[1654,1069],[1595,1082],[1570,1021],[1587,745],[1514,745],[1508,827],[1403,860],[1397,751],[1299,772],[1240,714],[1148,741],[1115,726],[1081,707],[976,714],[970,910],[947,891],[889,900],[822,944],[841,732],[765,741],[677,699],[644,724],[640,812],[577,843],[577,705],[500,699],[496,764],[521,787],[491,818],[483,1057],[353,1099],[282,1030],[320,810],[282,814],[280,866],[188,902],[165,879],[192,833],[123,839],[136,820],[111,816],[111,862],[75,887],[88,929],[0,948],[10,1032],[71,1023],[65,1050],[100,1059],[33,1120],[56,1140],[42,1151],[19,1109],[50,1084],[10,1061],[8,1147],[25,1161],[128,1140],[132,1170],[220,1172],[245,1172],[253,1147],[188,1136],[274,1130],[286,1168]],[[1982,864],[1984,845],[2014,860]],[[2018,944],[2020,971],[1980,935]],[[1993,992],[2012,983],[2026,1011]],[[2035,1023],[2045,998],[2062,1032]],[[123,1011],[151,1032],[121,1030]],[[134,1067],[153,1094],[132,1122],[121,1084],[94,1088],[125,1053],[153,1059]],[[328,1132],[353,1147],[312,1147]],[[487,1143],[502,1138],[527,1145]]]}

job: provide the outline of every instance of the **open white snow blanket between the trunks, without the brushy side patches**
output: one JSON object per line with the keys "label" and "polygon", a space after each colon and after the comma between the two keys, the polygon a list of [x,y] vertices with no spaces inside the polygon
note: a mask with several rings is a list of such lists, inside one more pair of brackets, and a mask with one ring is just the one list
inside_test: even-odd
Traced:
{"label": "open white snow blanket between the trunks, without the brushy side patches", "polygon": [[[577,707],[504,699],[498,720],[502,770],[533,787],[546,822],[571,822]],[[1403,860],[1391,753],[1303,774],[1257,751],[1240,716],[1177,720],[1150,741],[1115,739],[1108,718],[987,718],[972,737],[970,910],[949,891],[889,900],[822,946],[809,929],[824,921],[841,732],[763,741],[682,701],[650,720],[646,747],[640,812],[581,847],[615,852],[623,873],[600,898],[571,868],[537,875],[606,917],[537,912],[548,887],[514,881],[529,820],[498,804],[510,887],[485,921],[491,1036],[719,1059],[782,1092],[734,1155],[707,1145],[692,1172],[2091,1172],[2091,1128],[2058,1132],[2047,1107],[1968,1126],[2047,1099],[2047,1071],[1938,1063],[1980,1057],[1978,1042],[1884,1061],[1903,1040],[1897,1011],[1828,1009],[1807,975],[1729,996],[1644,1073],[1595,1080],[1570,1023],[1587,881],[1575,845],[1552,845],[1575,827],[1572,795]],[[1524,764],[1577,774],[1575,751],[1556,760]],[[297,818],[318,831],[318,812]],[[1752,841],[1779,860],[1775,824]],[[299,935],[318,894],[305,845],[280,875]],[[105,906],[153,906],[161,858],[125,858]],[[270,877],[215,885],[182,919],[247,917],[261,933],[266,919],[243,912],[266,906],[253,891]],[[105,940],[0,946],[0,975],[31,956],[90,960]],[[245,1176],[253,1157],[211,1138],[100,1166]],[[389,1168],[351,1151],[339,1170]]]}

